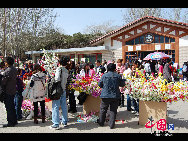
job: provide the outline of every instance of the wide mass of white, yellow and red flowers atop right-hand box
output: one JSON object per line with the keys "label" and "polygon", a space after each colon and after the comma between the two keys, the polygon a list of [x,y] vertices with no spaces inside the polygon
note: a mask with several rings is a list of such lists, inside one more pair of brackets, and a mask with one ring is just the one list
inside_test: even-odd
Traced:
{"label": "wide mass of white, yellow and red flowers atop right-hand box", "polygon": [[188,101],[188,82],[170,82],[163,80],[161,74],[154,78],[152,75],[149,80],[137,70],[140,78],[127,77],[125,93],[131,94],[133,98],[143,101],[157,102],[176,102],[178,100]]}

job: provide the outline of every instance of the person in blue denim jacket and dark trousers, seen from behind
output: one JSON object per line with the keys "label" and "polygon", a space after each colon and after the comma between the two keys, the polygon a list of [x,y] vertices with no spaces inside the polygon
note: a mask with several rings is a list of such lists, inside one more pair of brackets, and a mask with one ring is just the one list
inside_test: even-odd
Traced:
{"label": "person in blue denim jacket and dark trousers, seen from behind", "polygon": [[122,79],[121,75],[116,71],[116,65],[110,63],[107,65],[107,73],[105,73],[98,85],[102,88],[101,96],[102,99],[100,105],[100,113],[98,124],[100,126],[104,125],[106,113],[108,107],[110,106],[110,119],[109,126],[110,129],[113,129],[115,126],[115,119],[117,114],[117,108],[119,104],[119,99],[121,98],[121,93],[119,87],[125,86],[125,79]]}

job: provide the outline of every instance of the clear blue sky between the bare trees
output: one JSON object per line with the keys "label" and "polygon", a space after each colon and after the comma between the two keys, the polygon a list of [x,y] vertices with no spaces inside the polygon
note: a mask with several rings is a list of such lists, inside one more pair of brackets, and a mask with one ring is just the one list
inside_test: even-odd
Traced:
{"label": "clear blue sky between the bare trees", "polygon": [[84,33],[93,24],[112,21],[113,26],[122,26],[122,8],[55,8],[55,26],[64,34]]}

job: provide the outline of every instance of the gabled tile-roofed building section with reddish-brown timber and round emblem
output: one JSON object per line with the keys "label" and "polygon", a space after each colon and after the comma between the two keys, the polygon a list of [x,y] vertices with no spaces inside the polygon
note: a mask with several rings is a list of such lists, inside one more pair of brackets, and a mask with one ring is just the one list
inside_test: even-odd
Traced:
{"label": "gabled tile-roofed building section with reddish-brown timber and round emblem", "polygon": [[151,52],[164,52],[182,66],[188,61],[188,24],[146,16],[91,41],[118,50],[124,60],[143,59]]}

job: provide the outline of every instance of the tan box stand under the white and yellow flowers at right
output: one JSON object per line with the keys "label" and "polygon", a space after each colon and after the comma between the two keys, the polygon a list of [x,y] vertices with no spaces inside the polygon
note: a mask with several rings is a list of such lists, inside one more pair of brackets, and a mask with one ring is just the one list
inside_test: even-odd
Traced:
{"label": "tan box stand under the white and yellow flowers at right", "polygon": [[139,101],[139,125],[144,125],[152,116],[153,123],[160,119],[167,119],[167,103],[156,101]]}

